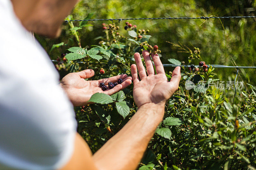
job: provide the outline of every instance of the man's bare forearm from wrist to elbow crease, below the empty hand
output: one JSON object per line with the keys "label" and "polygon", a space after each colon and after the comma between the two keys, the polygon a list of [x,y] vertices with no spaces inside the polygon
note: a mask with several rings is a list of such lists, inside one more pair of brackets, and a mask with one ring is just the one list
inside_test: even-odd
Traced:
{"label": "man's bare forearm from wrist to elbow crease, below the empty hand", "polygon": [[164,105],[145,104],[127,124],[93,155],[100,170],[136,169],[164,116]]}

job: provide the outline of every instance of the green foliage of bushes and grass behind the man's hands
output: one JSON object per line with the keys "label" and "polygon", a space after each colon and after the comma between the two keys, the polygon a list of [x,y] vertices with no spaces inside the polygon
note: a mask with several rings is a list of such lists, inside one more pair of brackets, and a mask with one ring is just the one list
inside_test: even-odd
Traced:
{"label": "green foliage of bushes and grass behind the man's hands", "polygon": [[[109,0],[106,4],[98,1],[81,1],[73,15],[68,18],[85,18],[84,14],[90,13],[91,9],[95,14],[101,14],[97,18],[125,18],[126,13],[129,13],[129,18],[166,17],[170,14],[177,17],[197,17],[215,15],[218,12],[221,16],[244,15],[244,7],[240,7],[238,2],[230,2],[232,3],[228,6],[226,1],[218,1],[222,6],[216,6],[215,1],[204,0],[159,1],[159,8],[156,8],[156,2],[151,0],[147,3],[138,0]],[[134,7],[133,4],[140,5]],[[131,6],[133,7],[130,8]],[[232,9],[240,9],[241,13]],[[93,16],[90,14],[88,17]],[[46,41],[40,37],[37,38],[48,52],[52,48],[52,59],[56,59],[57,55],[65,50],[71,52],[66,55],[68,62],[56,64],[62,76],[68,72],[90,68],[95,71],[95,76],[89,80],[123,73],[130,75],[129,67],[134,63],[133,54],[148,48],[145,41],[151,45],[157,44],[161,48],[161,60],[164,63],[198,65],[199,61],[205,61],[227,65],[253,64],[255,58],[252,56],[256,54],[253,20],[225,20],[221,23],[218,19],[209,19],[203,22],[141,20],[134,21],[132,24],[136,23],[137,28],[128,31],[123,29],[122,22],[119,29],[117,23],[113,23],[113,28],[103,31],[100,31],[101,22],[94,22],[94,26],[87,22],[74,23],[75,25],[69,22],[68,25],[64,25],[65,29],[58,42],[50,43],[67,44],[53,48],[46,45]],[[140,33],[139,28],[150,29],[153,36]],[[139,38],[139,35],[142,38]],[[104,68],[105,74],[99,74],[100,68]],[[208,67],[207,72],[203,72],[202,68],[198,69],[188,71],[187,67],[181,67],[179,90],[166,103],[163,122],[158,125],[155,135],[148,144],[148,150],[140,163],[140,170],[255,169],[256,89],[253,86],[255,78],[250,76],[254,75],[254,70],[239,71],[237,81],[244,80],[252,85],[246,84],[245,89],[237,89],[234,98],[234,89],[221,90],[210,86],[218,80],[234,81],[234,70],[217,70],[212,66]],[[172,70],[165,70],[170,80]],[[190,90],[185,90],[187,80],[195,84]],[[204,82],[205,86],[200,82]],[[96,93],[90,101],[95,104],[82,108],[75,107],[77,130],[90,145],[92,152],[97,152],[129,121],[138,108],[132,98],[132,85],[111,96]]]}

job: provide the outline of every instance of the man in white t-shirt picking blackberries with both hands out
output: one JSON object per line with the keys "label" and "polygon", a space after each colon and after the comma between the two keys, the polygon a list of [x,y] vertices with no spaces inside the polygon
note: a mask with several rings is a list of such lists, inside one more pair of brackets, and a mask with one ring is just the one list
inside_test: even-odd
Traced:
{"label": "man in white t-shirt picking blackberries with both hands out", "polygon": [[[26,30],[56,37],[60,25],[78,0],[0,0],[0,169],[136,169],[157,125],[164,105],[178,89],[180,68],[167,81],[159,56],[143,51],[131,66],[132,78],[120,75],[85,81],[93,70],[70,73],[58,85],[58,72]],[[137,74],[139,71],[139,76]],[[105,91],[111,95],[131,84],[137,113],[114,137],[92,155],[76,133],[73,106],[87,104],[107,84],[124,82]],[[62,88],[61,88],[61,87]],[[63,90],[62,90],[63,89]],[[64,93],[65,91],[65,93]],[[71,102],[68,100],[72,102]]]}

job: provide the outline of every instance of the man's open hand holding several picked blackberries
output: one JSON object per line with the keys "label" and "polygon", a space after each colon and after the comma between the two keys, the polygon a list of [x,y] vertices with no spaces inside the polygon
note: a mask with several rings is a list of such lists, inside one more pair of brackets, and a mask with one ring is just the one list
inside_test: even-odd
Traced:
{"label": "man's open hand holding several picked blackberries", "polygon": [[[85,80],[85,78],[90,78],[93,75],[94,71],[92,69],[87,69],[77,73],[69,73],[60,82],[61,87],[67,93],[69,100],[71,100],[74,106],[90,104],[88,103],[88,100],[90,100],[94,93],[100,92],[112,95],[120,90],[123,90],[132,83],[132,78],[127,77],[126,74],[100,80]],[[100,83],[104,83],[108,86],[108,82],[115,83],[119,78],[122,78],[124,82],[122,84],[116,85],[113,89],[103,91],[100,88]]]}

